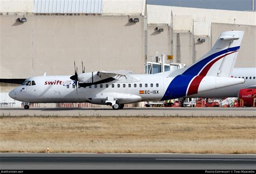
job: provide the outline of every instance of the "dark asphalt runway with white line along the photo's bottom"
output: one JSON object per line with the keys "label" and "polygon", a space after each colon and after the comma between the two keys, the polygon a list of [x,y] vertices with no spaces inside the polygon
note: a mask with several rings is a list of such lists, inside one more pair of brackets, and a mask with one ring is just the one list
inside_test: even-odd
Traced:
{"label": "dark asphalt runway with white line along the photo's bottom", "polygon": [[2,153],[0,154],[0,168],[6,170],[255,170],[256,155]]}

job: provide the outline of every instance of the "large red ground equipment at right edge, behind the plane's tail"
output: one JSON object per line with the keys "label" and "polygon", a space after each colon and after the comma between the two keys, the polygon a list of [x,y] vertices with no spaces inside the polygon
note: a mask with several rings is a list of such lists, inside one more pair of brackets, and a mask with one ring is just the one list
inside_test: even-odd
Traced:
{"label": "large red ground equipment at right edge, behind the plane's tail", "polygon": [[255,106],[254,98],[256,98],[256,89],[241,89],[239,91],[239,99],[244,101],[244,106]]}

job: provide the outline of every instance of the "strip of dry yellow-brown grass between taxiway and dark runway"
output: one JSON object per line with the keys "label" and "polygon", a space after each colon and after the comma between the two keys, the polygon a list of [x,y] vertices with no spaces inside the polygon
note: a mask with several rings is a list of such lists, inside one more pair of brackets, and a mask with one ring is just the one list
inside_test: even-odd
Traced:
{"label": "strip of dry yellow-brown grass between taxiway and dark runway", "polygon": [[256,117],[0,117],[0,152],[256,154]]}

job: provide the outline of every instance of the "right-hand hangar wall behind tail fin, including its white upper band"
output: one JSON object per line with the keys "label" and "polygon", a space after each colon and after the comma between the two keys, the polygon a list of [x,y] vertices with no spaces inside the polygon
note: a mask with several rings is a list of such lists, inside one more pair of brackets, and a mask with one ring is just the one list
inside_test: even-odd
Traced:
{"label": "right-hand hangar wall behind tail fin, including its white upper band", "polygon": [[[255,67],[255,63],[252,63],[256,60],[255,14],[252,11],[147,5],[148,28],[165,25],[173,31],[173,34],[161,32],[150,35],[147,55],[151,57],[156,55],[156,52],[169,55],[172,54],[171,48],[173,48],[173,62],[190,65],[211,49],[221,32],[242,30],[245,31],[245,35],[235,67]],[[198,39],[204,39],[204,42]],[[158,40],[163,40],[163,45],[154,44]],[[167,48],[169,46],[170,48]],[[153,49],[150,50],[150,48]],[[239,57],[247,57],[247,60],[239,59]]]}

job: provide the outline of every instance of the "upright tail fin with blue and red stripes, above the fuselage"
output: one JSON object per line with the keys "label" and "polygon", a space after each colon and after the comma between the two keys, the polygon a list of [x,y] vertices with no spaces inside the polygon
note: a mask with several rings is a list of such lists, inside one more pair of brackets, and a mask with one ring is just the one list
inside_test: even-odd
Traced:
{"label": "upright tail fin with blue and red stripes, above the fuselage", "polygon": [[174,71],[170,76],[219,76],[229,77],[234,68],[244,31],[227,31],[220,34],[210,52],[183,69]]}

